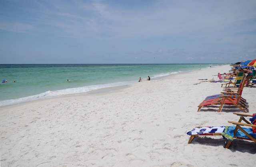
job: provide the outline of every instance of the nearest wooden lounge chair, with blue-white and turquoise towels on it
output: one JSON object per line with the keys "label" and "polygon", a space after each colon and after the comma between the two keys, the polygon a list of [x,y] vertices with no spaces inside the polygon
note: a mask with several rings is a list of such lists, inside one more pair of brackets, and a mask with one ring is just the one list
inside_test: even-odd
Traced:
{"label": "nearest wooden lounge chair, with blue-white and turquoise towels on it", "polygon": [[[188,143],[191,143],[197,136],[222,136],[227,138],[225,148],[229,148],[234,138],[252,140],[256,143],[256,114],[243,114],[233,113],[240,116],[238,122],[228,121],[236,126],[218,126],[218,127],[196,127],[193,130],[187,132],[190,135]],[[244,117],[250,116],[250,123]],[[241,123],[242,120],[245,123]],[[249,128],[242,128],[241,126],[247,126]]]}

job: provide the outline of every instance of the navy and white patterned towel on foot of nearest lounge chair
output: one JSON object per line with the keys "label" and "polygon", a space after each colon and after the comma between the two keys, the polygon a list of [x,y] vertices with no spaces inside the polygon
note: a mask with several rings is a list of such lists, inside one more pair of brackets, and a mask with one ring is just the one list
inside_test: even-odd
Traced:
{"label": "navy and white patterned towel on foot of nearest lounge chair", "polygon": [[211,127],[200,127],[194,128],[189,131],[188,135],[196,135],[196,134],[213,134],[213,133],[222,133],[225,130],[225,126],[211,126]]}

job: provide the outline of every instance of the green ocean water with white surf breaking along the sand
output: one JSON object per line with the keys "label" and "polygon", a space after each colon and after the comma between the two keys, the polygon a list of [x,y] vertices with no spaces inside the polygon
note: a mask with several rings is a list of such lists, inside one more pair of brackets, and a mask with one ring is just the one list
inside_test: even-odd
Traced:
{"label": "green ocean water with white surf breaking along the sand", "polygon": [[[0,106],[146,81],[219,64],[6,64],[0,65]],[[2,80],[8,83],[2,83]],[[69,80],[69,81],[67,81]],[[13,81],[16,81],[14,83]]]}

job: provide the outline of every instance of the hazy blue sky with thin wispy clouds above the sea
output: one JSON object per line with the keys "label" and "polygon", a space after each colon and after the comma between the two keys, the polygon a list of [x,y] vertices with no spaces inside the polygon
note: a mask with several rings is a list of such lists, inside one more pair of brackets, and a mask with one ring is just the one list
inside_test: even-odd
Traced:
{"label": "hazy blue sky with thin wispy clouds above the sea", "polygon": [[256,0],[0,0],[0,64],[256,59]]}

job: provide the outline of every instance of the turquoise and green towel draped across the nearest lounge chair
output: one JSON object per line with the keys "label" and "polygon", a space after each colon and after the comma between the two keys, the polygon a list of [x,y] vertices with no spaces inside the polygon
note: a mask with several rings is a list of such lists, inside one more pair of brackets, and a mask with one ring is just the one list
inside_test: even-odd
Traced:
{"label": "turquoise and green towel draped across the nearest lounge chair", "polygon": [[[234,130],[236,129],[236,126],[226,126],[224,132],[222,132],[221,134],[223,136],[225,136],[226,138],[228,138],[229,140],[233,141],[233,136],[234,136]],[[250,134],[253,138],[256,138],[256,134],[252,132],[252,128],[242,128],[245,132],[247,132],[248,134]],[[246,136],[242,131],[240,131],[239,129],[236,132],[236,137],[238,138],[246,138],[249,139],[248,136]]]}

